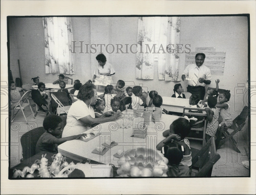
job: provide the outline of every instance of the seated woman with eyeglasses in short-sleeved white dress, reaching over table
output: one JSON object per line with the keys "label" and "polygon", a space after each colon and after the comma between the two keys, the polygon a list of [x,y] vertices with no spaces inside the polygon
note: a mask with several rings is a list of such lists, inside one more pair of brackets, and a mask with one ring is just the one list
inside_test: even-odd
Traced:
{"label": "seated woman with eyeglasses in short-sleeved white dress, reaching over table", "polygon": [[78,92],[77,101],[68,111],[67,124],[63,129],[62,137],[79,135],[92,126],[113,121],[118,118],[113,112],[105,112],[99,118],[95,118],[92,105],[97,101],[98,95],[94,84],[83,85]]}

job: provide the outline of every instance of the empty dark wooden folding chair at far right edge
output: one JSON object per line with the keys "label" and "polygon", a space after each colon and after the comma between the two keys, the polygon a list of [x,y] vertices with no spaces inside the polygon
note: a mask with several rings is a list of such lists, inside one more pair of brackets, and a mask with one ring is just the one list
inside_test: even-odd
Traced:
{"label": "empty dark wooden folding chair at far right edge", "polygon": [[[233,138],[234,135],[237,135],[238,131],[242,131],[244,125],[246,124],[245,121],[248,117],[250,110],[248,106],[244,106],[242,112],[233,120],[233,124],[231,127],[227,127],[224,129],[219,125],[217,129],[217,139],[216,139],[216,148],[219,149],[220,146],[222,146],[224,143],[227,142],[227,140],[230,138],[231,142],[233,143],[233,149],[237,151],[238,153],[241,153],[240,150],[237,148],[237,142]],[[250,122],[248,123],[250,125]],[[250,129],[250,127],[248,127]],[[231,133],[228,132],[228,129],[232,129],[233,131]],[[224,133],[226,136],[225,139],[220,140],[221,134]]]}

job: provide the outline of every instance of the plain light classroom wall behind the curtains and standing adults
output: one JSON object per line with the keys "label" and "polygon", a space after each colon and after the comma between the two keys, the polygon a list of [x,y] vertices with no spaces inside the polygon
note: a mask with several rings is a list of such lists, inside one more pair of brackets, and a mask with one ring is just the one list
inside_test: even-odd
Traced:
{"label": "plain light classroom wall behind the curtains and standing adults", "polygon": [[[136,44],[137,17],[72,17],[71,21],[74,41],[84,41],[87,44]],[[37,76],[40,77],[40,81],[45,83],[57,80],[58,74],[45,73],[42,19],[11,18],[9,27],[10,46],[12,46],[10,47],[10,68],[14,79],[19,75],[16,63],[19,59],[23,83],[30,83],[31,78]],[[215,87],[215,80],[219,78],[219,88],[231,91],[230,104],[234,110],[232,118],[235,118],[244,106],[242,96],[236,96],[235,87],[238,83],[247,82],[247,18],[235,16],[182,17],[180,29],[180,43],[191,44],[191,51],[194,51],[195,47],[215,47],[216,51],[226,52],[224,75],[212,75],[209,87]],[[76,44],[80,45],[78,42]],[[84,83],[88,79],[92,79],[97,64],[95,59],[97,53],[79,53],[79,48],[76,51],[76,74],[68,76]],[[105,52],[103,51],[103,53]],[[161,96],[171,96],[173,86],[179,83],[158,80],[156,64],[154,80],[136,79],[136,54],[114,52],[106,57],[116,70],[116,74],[112,77],[113,83],[122,79],[129,85],[132,85],[133,82],[135,85],[143,84],[148,91],[157,90]],[[185,54],[181,54],[181,66],[184,66],[184,63]],[[186,91],[187,82],[180,81],[180,83]]]}

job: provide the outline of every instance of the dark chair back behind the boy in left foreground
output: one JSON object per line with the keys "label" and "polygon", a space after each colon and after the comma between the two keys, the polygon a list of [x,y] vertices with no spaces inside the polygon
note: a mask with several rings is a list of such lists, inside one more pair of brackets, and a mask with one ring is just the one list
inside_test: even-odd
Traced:
{"label": "dark chair back behind the boy in left foreground", "polygon": [[28,160],[31,156],[34,156],[36,154],[36,143],[44,132],[45,132],[44,127],[37,127],[35,129],[30,130],[29,132],[24,133],[20,137],[20,143],[22,146],[22,156],[23,156],[23,158],[20,159],[20,162],[30,163]]}

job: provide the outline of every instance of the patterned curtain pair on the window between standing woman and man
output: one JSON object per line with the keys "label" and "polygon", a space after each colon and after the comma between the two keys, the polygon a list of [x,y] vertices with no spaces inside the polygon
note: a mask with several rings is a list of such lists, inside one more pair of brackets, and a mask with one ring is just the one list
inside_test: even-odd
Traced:
{"label": "patterned curtain pair on the window between standing woman and man", "polygon": [[181,80],[176,45],[180,43],[179,34],[180,17],[139,17],[136,78],[154,79],[154,61],[157,61],[159,80]]}

